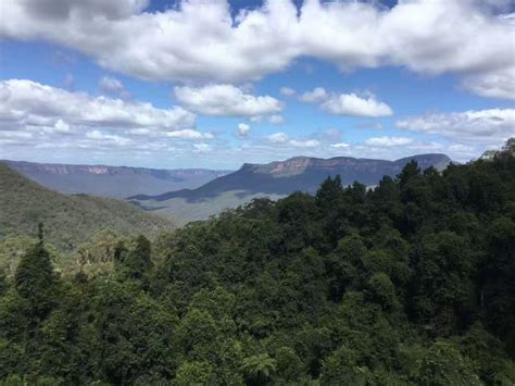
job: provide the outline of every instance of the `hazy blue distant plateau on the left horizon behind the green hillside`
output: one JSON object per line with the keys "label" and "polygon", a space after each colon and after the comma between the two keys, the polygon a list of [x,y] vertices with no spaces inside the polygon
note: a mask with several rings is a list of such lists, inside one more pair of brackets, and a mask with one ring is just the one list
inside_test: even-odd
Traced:
{"label": "hazy blue distant plateau on the left horizon behind the green hillside", "polygon": [[64,194],[125,198],[194,189],[230,171],[206,169],[146,169],[2,161],[24,176]]}

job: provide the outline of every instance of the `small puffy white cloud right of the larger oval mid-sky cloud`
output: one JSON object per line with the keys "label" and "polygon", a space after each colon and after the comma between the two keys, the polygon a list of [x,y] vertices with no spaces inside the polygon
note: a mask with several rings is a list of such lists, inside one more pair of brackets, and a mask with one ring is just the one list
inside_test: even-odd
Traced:
{"label": "small puffy white cloud right of the larger oval mid-sky cloud", "polygon": [[337,115],[351,116],[390,116],[391,108],[375,99],[374,96],[360,98],[355,94],[340,94],[331,96],[322,103],[322,109]]}

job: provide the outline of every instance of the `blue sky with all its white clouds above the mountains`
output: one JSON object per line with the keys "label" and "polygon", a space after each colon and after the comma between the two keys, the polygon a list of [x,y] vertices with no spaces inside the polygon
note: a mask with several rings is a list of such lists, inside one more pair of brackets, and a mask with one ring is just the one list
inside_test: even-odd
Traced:
{"label": "blue sky with all its white clouds above the mountains", "polygon": [[515,137],[515,0],[10,0],[0,159],[466,162]]}

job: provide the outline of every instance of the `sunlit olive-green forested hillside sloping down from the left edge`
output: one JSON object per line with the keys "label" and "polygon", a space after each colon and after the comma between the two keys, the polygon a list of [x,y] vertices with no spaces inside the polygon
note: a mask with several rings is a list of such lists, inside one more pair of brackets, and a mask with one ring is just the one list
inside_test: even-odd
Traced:
{"label": "sunlit olive-green forested hillside sloping down from the left edge", "polygon": [[0,213],[0,241],[7,235],[35,235],[42,222],[48,240],[65,250],[104,227],[128,235],[153,235],[172,227],[169,221],[120,200],[49,190],[1,162]]}

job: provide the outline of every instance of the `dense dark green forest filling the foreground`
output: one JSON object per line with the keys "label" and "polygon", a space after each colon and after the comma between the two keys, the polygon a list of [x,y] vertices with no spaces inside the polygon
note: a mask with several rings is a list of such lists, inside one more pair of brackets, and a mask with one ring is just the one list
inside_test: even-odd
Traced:
{"label": "dense dark green forest filling the foreground", "polygon": [[515,159],[328,178],[0,285],[7,385],[513,385]]}

